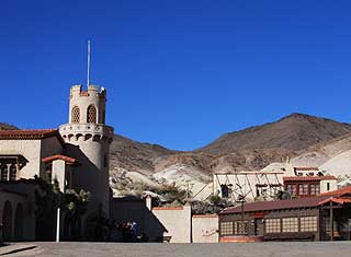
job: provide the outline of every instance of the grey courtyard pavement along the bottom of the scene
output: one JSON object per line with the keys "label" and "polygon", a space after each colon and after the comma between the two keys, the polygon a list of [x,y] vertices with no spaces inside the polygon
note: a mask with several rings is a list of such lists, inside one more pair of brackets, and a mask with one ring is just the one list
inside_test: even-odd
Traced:
{"label": "grey courtyard pavement along the bottom of the scene", "polygon": [[[23,248],[16,244],[7,247]],[[350,257],[351,242],[342,243],[257,243],[257,244],[97,244],[97,243],[34,243],[36,248],[0,256],[123,256],[123,257]],[[9,248],[10,249],[10,248]],[[4,254],[4,255],[1,255]]]}

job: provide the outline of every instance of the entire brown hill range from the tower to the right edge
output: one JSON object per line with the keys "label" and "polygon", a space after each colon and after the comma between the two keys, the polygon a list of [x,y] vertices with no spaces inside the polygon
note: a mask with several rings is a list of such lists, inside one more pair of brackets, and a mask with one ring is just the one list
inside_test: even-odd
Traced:
{"label": "entire brown hill range from the tower to the right edge", "polygon": [[138,143],[115,137],[112,144],[114,167],[157,173],[181,163],[204,173],[260,170],[272,162],[302,154],[305,149],[351,133],[351,125],[304,114],[292,114],[278,121],[222,136],[213,143],[192,151],[177,152],[160,145]]}

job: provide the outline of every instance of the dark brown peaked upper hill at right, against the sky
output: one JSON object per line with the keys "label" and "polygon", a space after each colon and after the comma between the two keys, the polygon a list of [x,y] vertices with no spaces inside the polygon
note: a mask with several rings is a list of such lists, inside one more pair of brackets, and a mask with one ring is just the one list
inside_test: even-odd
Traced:
{"label": "dark brown peaked upper hill at right, against the sky", "polygon": [[350,132],[350,124],[304,114],[292,114],[275,122],[226,133],[197,151],[212,154],[257,149],[297,151]]}

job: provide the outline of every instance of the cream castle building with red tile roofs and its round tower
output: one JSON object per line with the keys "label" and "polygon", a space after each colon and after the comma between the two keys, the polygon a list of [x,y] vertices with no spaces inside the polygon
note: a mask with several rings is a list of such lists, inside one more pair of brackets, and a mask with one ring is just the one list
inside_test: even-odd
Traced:
{"label": "cream castle building with red tile roofs and its round tower", "polygon": [[[110,214],[109,163],[113,128],[105,125],[106,90],[70,89],[68,124],[59,129],[0,131],[0,230],[7,241],[39,237],[36,186],[31,179],[57,179],[61,191],[81,189],[91,198],[79,220],[80,238],[92,240],[98,218]],[[65,213],[60,235],[67,234]],[[53,220],[56,218],[53,217]],[[56,227],[42,227],[42,234]],[[0,238],[1,240],[1,238]]]}

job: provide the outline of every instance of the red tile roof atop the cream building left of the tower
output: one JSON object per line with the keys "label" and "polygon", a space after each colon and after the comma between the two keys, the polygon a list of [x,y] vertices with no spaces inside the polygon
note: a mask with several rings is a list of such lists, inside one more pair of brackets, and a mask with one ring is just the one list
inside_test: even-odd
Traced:
{"label": "red tile roof atop the cream building left of the tower", "polygon": [[0,140],[37,140],[50,137],[65,143],[57,129],[26,129],[26,130],[3,130],[0,131]]}

